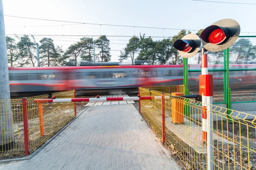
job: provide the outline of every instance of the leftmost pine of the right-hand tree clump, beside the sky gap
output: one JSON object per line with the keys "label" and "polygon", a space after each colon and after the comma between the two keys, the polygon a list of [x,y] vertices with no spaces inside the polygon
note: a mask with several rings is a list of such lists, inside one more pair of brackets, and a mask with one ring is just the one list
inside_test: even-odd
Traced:
{"label": "leftmost pine of the right-hand tree clump, beside the sky gap", "polygon": [[134,65],[134,59],[140,49],[140,39],[138,37],[132,37],[124,48],[124,52],[121,51],[119,61],[122,62],[125,59],[131,58],[132,65]]}

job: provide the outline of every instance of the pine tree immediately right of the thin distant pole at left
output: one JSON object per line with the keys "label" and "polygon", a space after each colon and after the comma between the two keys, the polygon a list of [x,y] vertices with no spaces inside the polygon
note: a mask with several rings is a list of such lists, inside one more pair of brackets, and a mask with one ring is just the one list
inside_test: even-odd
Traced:
{"label": "pine tree immediately right of the thin distant pole at left", "polygon": [[58,61],[58,57],[60,57],[60,55],[55,48],[53,40],[51,38],[43,38],[39,42],[41,43],[39,46],[41,58],[40,65],[47,65],[48,67],[56,66],[56,62]]}

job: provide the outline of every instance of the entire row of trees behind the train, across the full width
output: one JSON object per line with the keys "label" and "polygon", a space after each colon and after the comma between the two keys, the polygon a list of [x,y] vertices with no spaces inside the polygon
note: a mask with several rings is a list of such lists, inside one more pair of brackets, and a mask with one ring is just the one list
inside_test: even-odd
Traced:
{"label": "entire row of trees behind the train, across the full width", "polygon": [[[202,31],[203,29],[198,31],[197,35],[199,36]],[[145,60],[151,65],[183,64],[183,59],[173,47],[173,43],[190,33],[190,31],[181,30],[177,35],[163,40],[153,40],[151,37],[145,37],[145,34],[140,34],[140,37],[131,37],[124,51],[120,51],[119,62],[131,59],[132,64],[135,60]],[[97,40],[82,37],[65,51],[61,46],[55,45],[51,38],[43,38],[39,41],[40,66],[64,66],[77,61],[93,62],[93,41],[97,51],[95,52],[96,62],[109,62],[111,60],[110,40],[105,35]],[[9,66],[37,66],[36,46],[28,35],[21,37],[17,43],[14,38],[6,36],[6,46]],[[230,47],[230,55],[235,61],[254,61],[256,45],[248,39],[239,39]],[[209,52],[208,58],[215,62],[221,61],[223,51]],[[200,55],[194,59],[198,64],[201,62]]]}

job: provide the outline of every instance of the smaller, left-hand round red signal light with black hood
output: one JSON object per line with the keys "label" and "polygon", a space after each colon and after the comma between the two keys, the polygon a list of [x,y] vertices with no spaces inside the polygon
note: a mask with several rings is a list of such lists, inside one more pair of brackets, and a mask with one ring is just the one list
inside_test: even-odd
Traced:
{"label": "smaller, left-hand round red signal light with black hood", "polygon": [[176,40],[173,47],[178,50],[181,57],[190,58],[198,53],[201,40],[196,34],[187,34],[182,39]]}

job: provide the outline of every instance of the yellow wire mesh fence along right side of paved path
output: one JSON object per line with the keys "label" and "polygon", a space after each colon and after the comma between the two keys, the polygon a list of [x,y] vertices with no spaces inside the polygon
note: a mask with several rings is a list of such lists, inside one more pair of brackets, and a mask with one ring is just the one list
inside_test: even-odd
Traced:
{"label": "yellow wire mesh fence along right side of paved path", "polygon": [[[206,170],[210,155],[207,157],[209,140],[202,140],[202,103],[140,88],[140,96],[149,95],[162,96],[140,100],[140,113],[149,125],[187,168]],[[227,108],[215,105],[208,105],[207,109],[213,125],[209,130],[213,139],[213,169],[255,170],[256,116],[233,110],[228,116]]]}

